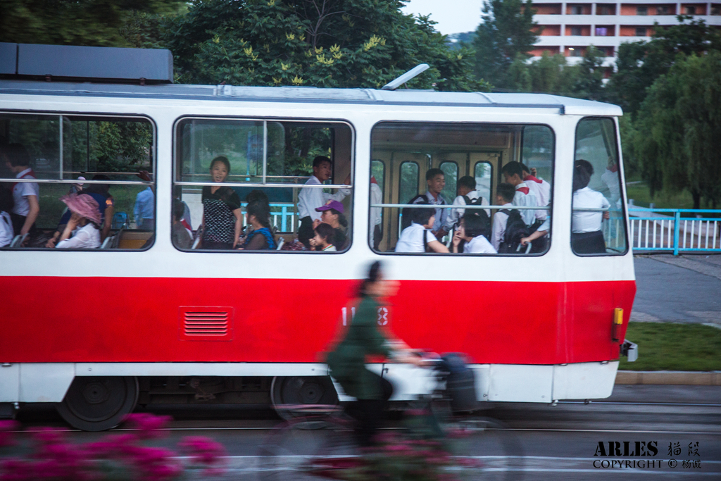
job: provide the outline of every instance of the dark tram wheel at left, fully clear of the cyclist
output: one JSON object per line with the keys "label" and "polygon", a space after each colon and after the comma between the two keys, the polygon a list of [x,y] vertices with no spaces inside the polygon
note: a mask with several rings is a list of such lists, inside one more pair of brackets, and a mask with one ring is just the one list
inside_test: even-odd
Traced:
{"label": "dark tram wheel at left, fully clear of the cyclist", "polygon": [[105,431],[115,428],[133,411],[138,391],[138,379],[131,376],[77,376],[57,410],[74,428]]}

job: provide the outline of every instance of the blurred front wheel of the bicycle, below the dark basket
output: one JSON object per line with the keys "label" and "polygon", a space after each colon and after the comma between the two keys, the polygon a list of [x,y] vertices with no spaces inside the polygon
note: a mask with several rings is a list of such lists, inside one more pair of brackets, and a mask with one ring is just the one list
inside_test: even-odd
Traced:
{"label": "blurred front wheel of the bicycle, below the dark basket", "polygon": [[444,468],[458,480],[518,481],[523,478],[523,453],[513,431],[490,418],[460,418],[444,425],[451,465]]}

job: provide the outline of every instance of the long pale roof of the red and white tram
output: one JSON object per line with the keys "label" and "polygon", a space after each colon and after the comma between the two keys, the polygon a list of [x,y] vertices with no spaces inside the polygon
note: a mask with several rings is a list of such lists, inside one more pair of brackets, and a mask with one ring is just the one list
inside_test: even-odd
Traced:
{"label": "long pale roof of the red and white tram", "polygon": [[556,109],[573,115],[623,115],[621,107],[549,94],[435,92],[431,90],[324,89],[317,87],[236,87],[188,84],[95,84],[0,80],[0,94],[136,97],[256,102],[435,105]]}

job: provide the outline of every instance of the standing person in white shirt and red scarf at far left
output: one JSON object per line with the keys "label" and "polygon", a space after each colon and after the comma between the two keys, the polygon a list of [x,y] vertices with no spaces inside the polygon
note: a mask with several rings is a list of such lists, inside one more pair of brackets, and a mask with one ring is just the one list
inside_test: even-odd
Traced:
{"label": "standing person in white shirt and red scarf at far left", "polygon": [[[35,179],[30,168],[30,154],[21,144],[9,144],[1,152],[5,166],[16,179]],[[14,182],[12,198],[15,202],[10,217],[16,235],[35,230],[35,220],[40,214],[40,186],[35,182]]]}

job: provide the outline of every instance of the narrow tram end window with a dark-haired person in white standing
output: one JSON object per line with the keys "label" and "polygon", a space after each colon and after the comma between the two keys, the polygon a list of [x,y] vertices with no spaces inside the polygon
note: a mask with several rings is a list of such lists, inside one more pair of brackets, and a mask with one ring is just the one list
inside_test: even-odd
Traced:
{"label": "narrow tram end window with a dark-haired person in white standing", "polygon": [[571,207],[571,247],[576,255],[627,252],[621,182],[614,120],[580,120]]}

